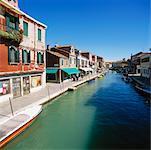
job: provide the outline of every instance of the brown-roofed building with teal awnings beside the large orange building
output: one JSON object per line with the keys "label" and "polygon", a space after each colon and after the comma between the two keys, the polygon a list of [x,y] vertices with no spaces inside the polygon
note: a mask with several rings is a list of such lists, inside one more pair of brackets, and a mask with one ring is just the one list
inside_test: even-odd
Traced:
{"label": "brown-roofed building with teal awnings beside the large orange building", "polygon": [[76,80],[80,73],[76,59],[77,51],[73,46],[55,46],[47,49],[47,82]]}

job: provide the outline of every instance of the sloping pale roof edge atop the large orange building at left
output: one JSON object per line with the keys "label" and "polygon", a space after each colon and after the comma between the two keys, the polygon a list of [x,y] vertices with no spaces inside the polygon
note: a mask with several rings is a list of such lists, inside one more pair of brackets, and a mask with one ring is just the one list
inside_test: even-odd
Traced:
{"label": "sloping pale roof edge atop the large orange building at left", "polygon": [[20,15],[24,15],[26,16],[28,19],[34,21],[35,23],[37,23],[38,25],[41,25],[45,28],[47,28],[47,26],[39,21],[37,21],[36,19],[32,18],[31,16],[27,15],[26,13],[24,13],[23,11],[21,11],[19,8],[11,5],[9,2],[5,1],[5,0],[0,0],[0,3],[2,3],[5,7],[11,9],[12,11],[16,12],[17,14]]}

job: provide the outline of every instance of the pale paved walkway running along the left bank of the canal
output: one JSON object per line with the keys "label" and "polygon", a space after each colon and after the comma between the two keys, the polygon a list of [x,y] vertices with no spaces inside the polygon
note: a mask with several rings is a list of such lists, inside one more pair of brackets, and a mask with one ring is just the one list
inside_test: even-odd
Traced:
{"label": "pale paved walkway running along the left bank of the canal", "polygon": [[[12,99],[13,111],[15,113],[25,109],[25,107],[31,107],[35,104],[44,104],[50,101],[52,98],[66,92],[69,87],[78,86],[84,82],[91,80],[97,77],[97,75],[89,75],[80,79],[79,81],[68,81],[61,84],[48,83],[45,88],[42,88],[38,92],[30,93],[26,96]],[[0,103],[0,121],[7,119],[8,116],[11,116],[11,107],[10,102],[6,101]]]}

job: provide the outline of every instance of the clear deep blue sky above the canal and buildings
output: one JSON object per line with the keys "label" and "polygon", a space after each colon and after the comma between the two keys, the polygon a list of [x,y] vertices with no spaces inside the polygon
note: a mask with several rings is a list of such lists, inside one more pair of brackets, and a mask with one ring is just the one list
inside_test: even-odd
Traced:
{"label": "clear deep blue sky above the canal and buildings", "polygon": [[149,49],[149,0],[19,0],[48,26],[46,44],[71,44],[106,60]]}

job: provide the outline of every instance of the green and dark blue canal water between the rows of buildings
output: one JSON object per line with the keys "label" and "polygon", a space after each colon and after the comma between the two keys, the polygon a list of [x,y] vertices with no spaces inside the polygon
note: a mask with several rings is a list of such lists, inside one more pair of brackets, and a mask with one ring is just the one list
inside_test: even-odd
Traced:
{"label": "green and dark blue canal water between the rows of buildings", "polygon": [[149,148],[150,106],[119,74],[67,92],[4,149]]}

